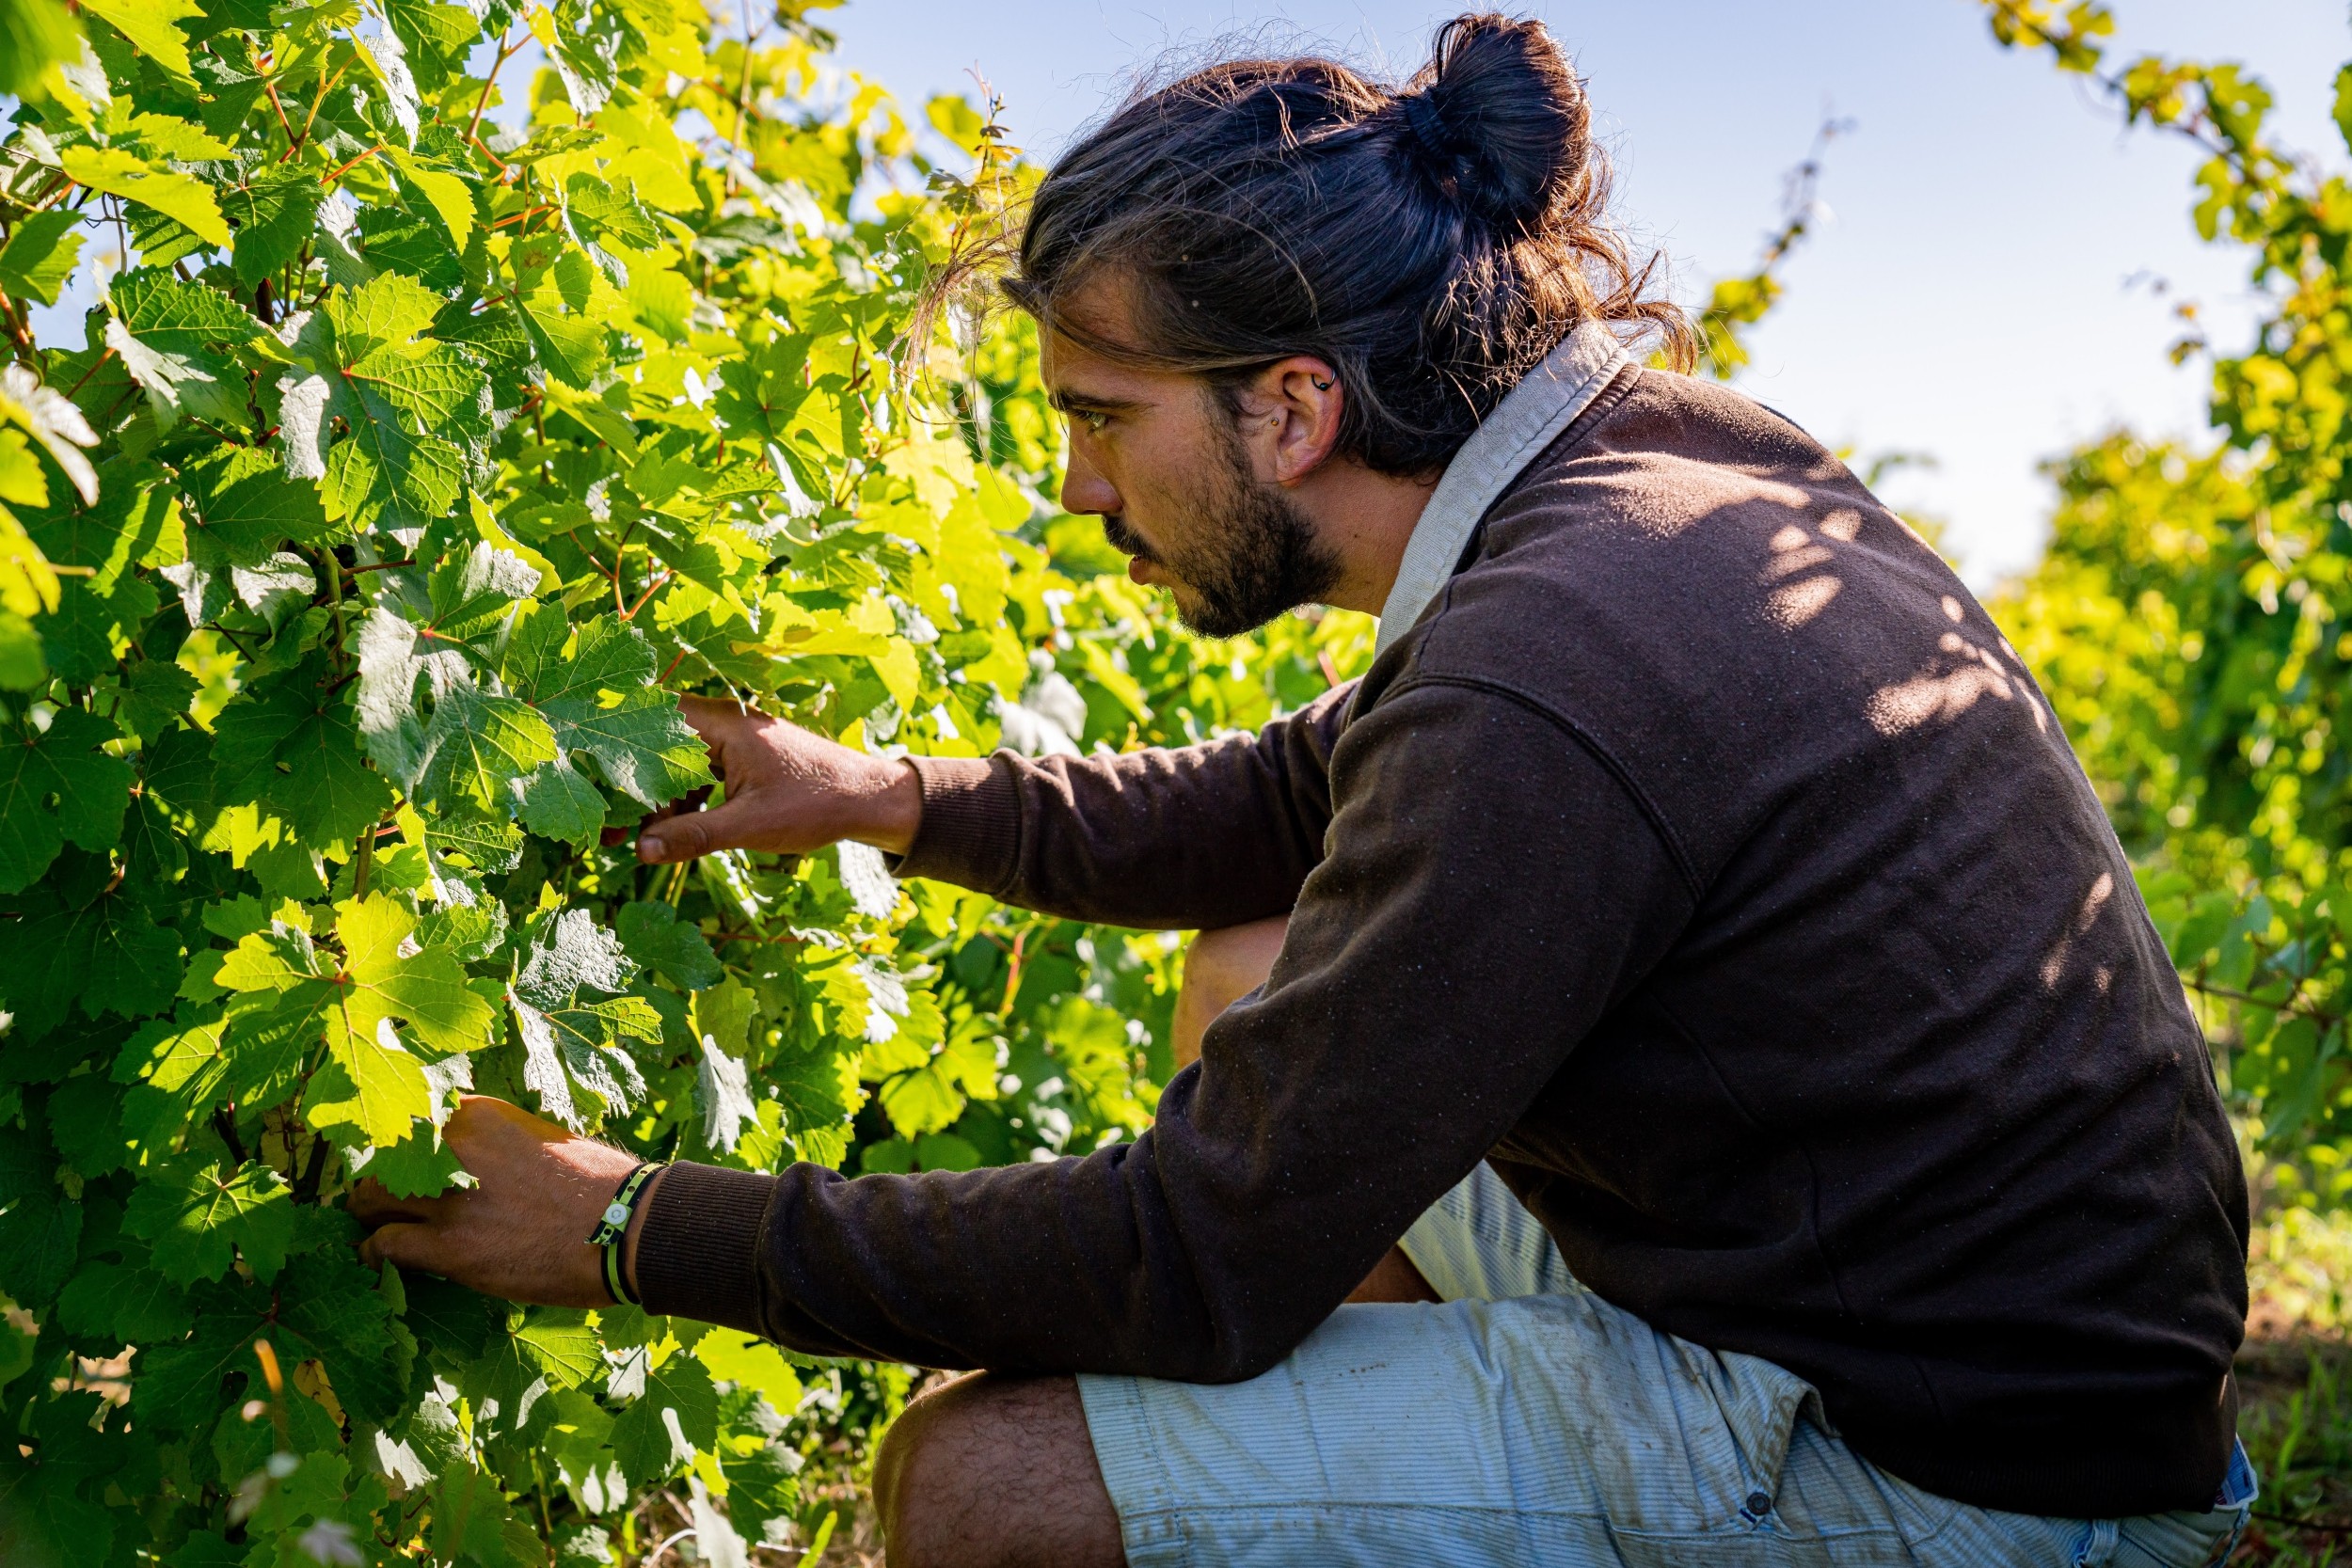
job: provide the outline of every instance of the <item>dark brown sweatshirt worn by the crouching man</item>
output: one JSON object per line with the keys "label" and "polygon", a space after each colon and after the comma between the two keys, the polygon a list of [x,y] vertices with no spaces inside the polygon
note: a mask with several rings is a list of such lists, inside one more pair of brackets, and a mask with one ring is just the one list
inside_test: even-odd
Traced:
{"label": "dark brown sweatshirt worn by the crouching man", "polygon": [[1625,369],[1362,684],[1254,738],[917,766],[908,875],[1296,907],[1282,959],[1134,1143],[680,1166],[652,1312],[1251,1378],[1489,1159],[1592,1291],[1809,1378],[1917,1486],[2211,1505],[2246,1187],[2204,1039],[2016,651],[1783,418]]}

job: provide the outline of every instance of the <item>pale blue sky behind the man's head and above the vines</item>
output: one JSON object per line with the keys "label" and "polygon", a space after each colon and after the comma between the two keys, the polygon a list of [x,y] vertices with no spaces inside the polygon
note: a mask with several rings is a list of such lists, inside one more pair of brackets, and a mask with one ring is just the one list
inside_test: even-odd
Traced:
{"label": "pale blue sky behind the man's head and above the vines", "polygon": [[[2352,56],[2343,0],[2117,0],[2129,49],[2241,59],[2288,146],[2352,162],[2328,110]],[[847,66],[906,99],[981,68],[1014,139],[1051,155],[1138,66],[1221,35],[1341,49],[1397,75],[1451,9],[1425,0],[851,0],[821,19]],[[1969,0],[1543,0],[1618,162],[1621,219],[1684,299],[1752,263],[1780,174],[1825,108],[1832,212],[1788,268],[1743,386],[1818,437],[1919,451],[1889,496],[1943,515],[1978,585],[2034,559],[2037,463],[2117,423],[2204,428],[2204,371],[2173,369],[2171,306],[2218,343],[2246,322],[2244,259],[2190,228],[2190,148],[2124,134],[2042,59],[1997,49]],[[2169,294],[2157,294],[2164,280]]]}

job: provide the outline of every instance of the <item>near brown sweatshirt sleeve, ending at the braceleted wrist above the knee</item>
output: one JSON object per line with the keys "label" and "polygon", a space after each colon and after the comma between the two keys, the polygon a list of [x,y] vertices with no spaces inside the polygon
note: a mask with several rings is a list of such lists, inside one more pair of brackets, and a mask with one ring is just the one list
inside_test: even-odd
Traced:
{"label": "near brown sweatshirt sleeve, ending at the braceleted wrist above the knee", "polygon": [[[1160,818],[1089,778],[1056,806],[1098,846],[1073,863],[1157,865],[1120,839]],[[1225,1382],[1289,1354],[1691,912],[1616,773],[1512,698],[1395,689],[1331,785],[1331,853],[1272,978],[1148,1133],[967,1173],[677,1166],[640,1241],[647,1309],[948,1368]]]}

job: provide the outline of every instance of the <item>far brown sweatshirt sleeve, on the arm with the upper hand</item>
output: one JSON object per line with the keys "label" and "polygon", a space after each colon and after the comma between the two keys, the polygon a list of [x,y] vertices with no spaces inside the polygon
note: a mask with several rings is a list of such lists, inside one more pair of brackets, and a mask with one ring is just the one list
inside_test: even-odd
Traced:
{"label": "far brown sweatshirt sleeve, on the arm with the upper hand", "polygon": [[1096,757],[910,757],[922,827],[894,867],[1117,926],[1282,914],[1322,860],[1355,682],[1256,736]]}

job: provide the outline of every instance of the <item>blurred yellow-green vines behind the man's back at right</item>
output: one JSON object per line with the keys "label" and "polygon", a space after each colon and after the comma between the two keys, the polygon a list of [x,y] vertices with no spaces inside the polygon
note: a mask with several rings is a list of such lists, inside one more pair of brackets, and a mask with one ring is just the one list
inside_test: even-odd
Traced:
{"label": "blurred yellow-green vines behind the man's back at right", "polygon": [[[2190,143],[2192,219],[2249,254],[2260,322],[2211,360],[2213,449],[2112,435],[2058,461],[2042,567],[1994,607],[2140,865],[2279,1197],[2352,1192],[2352,183],[2267,132],[2234,63],[2117,61],[2091,0],[1987,0],[2131,125]],[[2338,75],[2352,141],[2352,66]]]}

